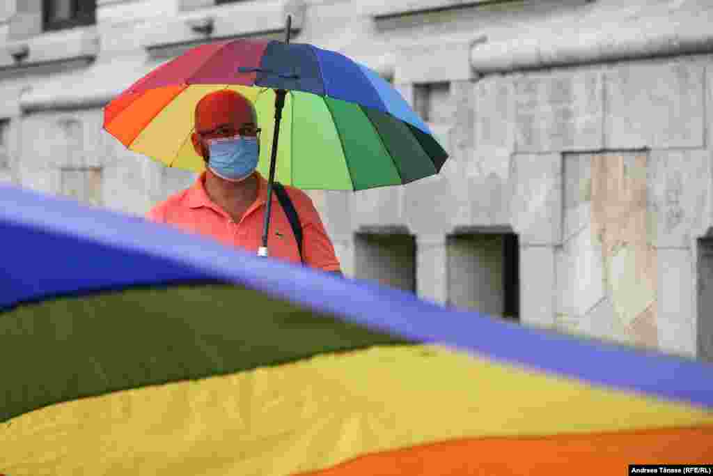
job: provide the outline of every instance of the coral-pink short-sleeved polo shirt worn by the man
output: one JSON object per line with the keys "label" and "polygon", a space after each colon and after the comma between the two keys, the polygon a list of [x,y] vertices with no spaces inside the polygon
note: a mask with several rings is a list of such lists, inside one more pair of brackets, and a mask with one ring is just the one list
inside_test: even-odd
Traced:
{"label": "coral-pink short-sleeved polo shirt worn by the man", "polygon": [[[260,173],[255,172],[255,174],[258,180],[257,200],[247,208],[238,223],[235,223],[208,197],[205,191],[205,172],[198,177],[193,186],[175,193],[168,200],[152,208],[147,218],[157,223],[168,223],[184,231],[211,236],[226,245],[237,246],[257,254],[257,248],[262,243],[267,181]],[[312,200],[297,188],[290,186],[284,188],[302,224],[304,263],[325,271],[338,271],[339,260],[334,254],[334,246],[327,236],[327,231],[324,230]],[[272,193],[271,213],[270,234],[267,238],[270,257],[299,263],[297,240],[275,192]]]}

